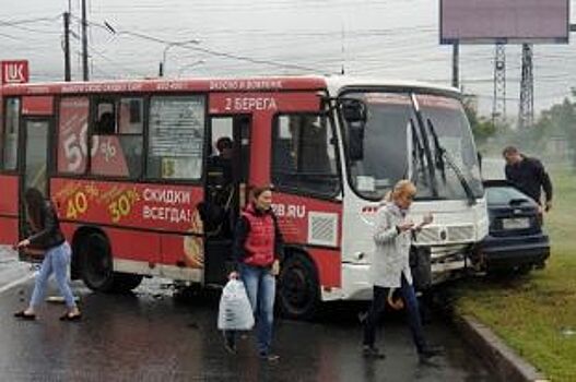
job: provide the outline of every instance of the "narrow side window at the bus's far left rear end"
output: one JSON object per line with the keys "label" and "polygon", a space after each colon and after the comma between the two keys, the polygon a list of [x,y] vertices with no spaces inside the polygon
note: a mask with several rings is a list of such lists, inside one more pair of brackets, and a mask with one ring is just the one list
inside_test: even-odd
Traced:
{"label": "narrow side window at the bus's far left rear end", "polygon": [[4,126],[2,139],[2,169],[15,170],[17,168],[17,138],[20,134],[20,99],[8,98],[4,109]]}

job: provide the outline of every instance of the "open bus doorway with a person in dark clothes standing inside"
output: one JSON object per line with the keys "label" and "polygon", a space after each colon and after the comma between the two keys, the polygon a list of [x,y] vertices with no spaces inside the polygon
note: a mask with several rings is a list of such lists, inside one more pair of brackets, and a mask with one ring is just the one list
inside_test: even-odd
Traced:
{"label": "open bus doorway with a person in dark clothes standing inside", "polygon": [[204,283],[224,284],[232,270],[234,227],[246,203],[249,116],[212,117],[201,216],[204,226]]}

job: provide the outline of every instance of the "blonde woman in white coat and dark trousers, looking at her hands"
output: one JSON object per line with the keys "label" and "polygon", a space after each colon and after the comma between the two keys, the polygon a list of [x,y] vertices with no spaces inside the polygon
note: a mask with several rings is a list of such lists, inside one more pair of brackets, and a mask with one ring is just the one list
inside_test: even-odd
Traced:
{"label": "blonde woman in white coat and dark trousers, looking at her hands", "polygon": [[442,351],[430,346],[425,338],[420,318],[418,299],[412,286],[409,254],[412,232],[432,223],[432,215],[414,225],[407,218],[412,200],[416,194],[415,186],[409,180],[400,180],[386,196],[386,203],[378,208],[374,229],[376,249],[372,258],[372,278],[374,298],[364,321],[364,341],[362,353],[365,357],[385,358],[376,346],[376,326],[387,300],[395,289],[400,291],[408,313],[408,323],[421,360],[426,360]]}

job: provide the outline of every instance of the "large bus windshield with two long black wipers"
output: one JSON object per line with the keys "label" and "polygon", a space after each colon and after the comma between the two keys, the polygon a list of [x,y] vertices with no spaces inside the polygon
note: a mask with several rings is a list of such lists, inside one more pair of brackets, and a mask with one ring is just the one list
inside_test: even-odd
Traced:
{"label": "large bus windshield with two long black wipers", "polygon": [[[372,91],[345,97],[366,105],[362,155],[346,150],[349,180],[357,194],[380,200],[398,180],[409,178],[419,189],[416,199],[482,196],[475,147],[458,99]],[[348,124],[345,130],[350,148]]]}

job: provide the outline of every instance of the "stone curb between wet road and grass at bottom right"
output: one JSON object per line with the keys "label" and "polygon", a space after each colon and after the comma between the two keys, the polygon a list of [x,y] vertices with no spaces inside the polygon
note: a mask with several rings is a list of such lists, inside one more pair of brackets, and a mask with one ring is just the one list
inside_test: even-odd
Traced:
{"label": "stone curb between wet road and grass at bottom right", "polygon": [[486,325],[470,315],[456,317],[461,337],[486,361],[501,381],[545,382],[544,374],[518,356]]}

